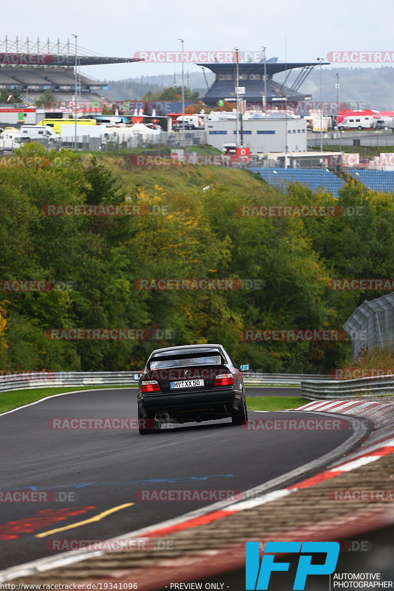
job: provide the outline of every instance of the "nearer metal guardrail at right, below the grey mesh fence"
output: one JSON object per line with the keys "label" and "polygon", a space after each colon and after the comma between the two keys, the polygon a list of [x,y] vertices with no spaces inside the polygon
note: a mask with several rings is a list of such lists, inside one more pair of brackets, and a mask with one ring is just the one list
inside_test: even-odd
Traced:
{"label": "nearer metal guardrail at right, below the grey mesh fence", "polygon": [[301,396],[308,400],[344,400],[346,398],[394,394],[394,375],[343,380],[301,381]]}

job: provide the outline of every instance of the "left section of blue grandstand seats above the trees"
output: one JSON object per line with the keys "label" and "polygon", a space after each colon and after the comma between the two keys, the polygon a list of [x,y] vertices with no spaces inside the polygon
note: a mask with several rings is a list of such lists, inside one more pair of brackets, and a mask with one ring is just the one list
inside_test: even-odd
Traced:
{"label": "left section of blue grandstand seats above the trees", "polygon": [[[343,182],[335,174],[325,168],[250,168],[258,173],[268,184],[283,189],[288,183],[302,183],[315,191],[323,187],[325,191],[338,197],[338,190]],[[394,173],[393,173],[394,174]]]}

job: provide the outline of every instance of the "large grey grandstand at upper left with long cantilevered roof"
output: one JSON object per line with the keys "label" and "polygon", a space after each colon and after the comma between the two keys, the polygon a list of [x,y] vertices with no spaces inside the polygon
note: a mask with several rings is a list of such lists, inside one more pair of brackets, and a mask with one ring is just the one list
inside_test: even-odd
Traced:
{"label": "large grey grandstand at upper left with long cantilevered roof", "polygon": [[44,90],[51,90],[60,101],[74,100],[74,66],[77,57],[78,100],[102,98],[106,86],[87,74],[80,72],[81,66],[97,64],[118,64],[141,61],[133,57],[105,57],[80,47],[73,55],[73,44],[45,43],[17,40],[7,37],[0,40],[0,89],[18,90],[22,100],[32,103]]}

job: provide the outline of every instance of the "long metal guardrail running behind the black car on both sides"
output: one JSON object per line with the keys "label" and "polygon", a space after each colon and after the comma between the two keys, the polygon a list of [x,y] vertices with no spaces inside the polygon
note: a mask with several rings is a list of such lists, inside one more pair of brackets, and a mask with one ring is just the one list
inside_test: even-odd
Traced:
{"label": "long metal guardrail running behind the black car on both sides", "polygon": [[[0,393],[30,388],[56,388],[64,386],[91,385],[136,385],[133,371],[121,372],[30,372],[24,374],[0,375]],[[244,374],[246,385],[295,385],[305,378],[325,379],[325,375],[265,374],[248,372]]]}

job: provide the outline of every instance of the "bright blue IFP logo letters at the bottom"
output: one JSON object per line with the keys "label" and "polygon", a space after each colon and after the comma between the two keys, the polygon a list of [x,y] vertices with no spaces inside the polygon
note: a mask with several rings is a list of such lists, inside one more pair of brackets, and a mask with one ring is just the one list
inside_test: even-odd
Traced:
{"label": "bright blue IFP logo letters at the bottom", "polygon": [[[246,591],[265,591],[273,571],[289,570],[288,562],[274,562],[275,554],[301,554],[298,559],[294,591],[305,588],[308,574],[331,574],[337,566],[338,542],[266,542],[260,564],[259,542],[246,542]],[[311,553],[324,553],[324,564],[311,564]]]}

